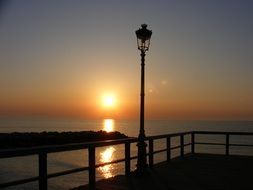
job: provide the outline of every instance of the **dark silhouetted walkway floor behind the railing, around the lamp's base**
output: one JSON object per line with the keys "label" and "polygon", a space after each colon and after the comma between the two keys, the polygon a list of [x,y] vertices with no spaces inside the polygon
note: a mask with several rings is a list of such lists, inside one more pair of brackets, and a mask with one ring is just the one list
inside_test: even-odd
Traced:
{"label": "dark silhouetted walkway floor behind the railing, around the lamp's base", "polygon": [[[116,176],[96,183],[99,190],[252,190],[253,157],[186,155],[156,164],[145,176]],[[85,190],[81,186],[75,190]]]}

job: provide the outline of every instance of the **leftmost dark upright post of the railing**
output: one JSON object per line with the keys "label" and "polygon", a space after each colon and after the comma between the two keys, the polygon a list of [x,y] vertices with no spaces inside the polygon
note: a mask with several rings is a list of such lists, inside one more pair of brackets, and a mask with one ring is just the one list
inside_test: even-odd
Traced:
{"label": "leftmost dark upright post of the railing", "polygon": [[39,154],[39,190],[47,190],[47,153]]}

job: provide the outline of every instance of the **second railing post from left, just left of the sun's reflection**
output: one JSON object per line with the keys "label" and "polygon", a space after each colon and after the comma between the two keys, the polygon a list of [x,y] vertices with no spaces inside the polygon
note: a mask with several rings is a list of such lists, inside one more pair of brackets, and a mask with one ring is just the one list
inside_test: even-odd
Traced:
{"label": "second railing post from left, just left of the sun's reflection", "polygon": [[95,147],[89,146],[89,190],[96,188],[96,155]]}

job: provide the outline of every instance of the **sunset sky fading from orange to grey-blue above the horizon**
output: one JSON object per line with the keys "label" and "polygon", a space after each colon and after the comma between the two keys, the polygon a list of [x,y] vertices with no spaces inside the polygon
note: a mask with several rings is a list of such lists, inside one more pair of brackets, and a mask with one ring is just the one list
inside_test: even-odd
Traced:
{"label": "sunset sky fading from orange to grey-blue above the horizon", "polygon": [[251,0],[0,2],[0,116],[253,120]]}

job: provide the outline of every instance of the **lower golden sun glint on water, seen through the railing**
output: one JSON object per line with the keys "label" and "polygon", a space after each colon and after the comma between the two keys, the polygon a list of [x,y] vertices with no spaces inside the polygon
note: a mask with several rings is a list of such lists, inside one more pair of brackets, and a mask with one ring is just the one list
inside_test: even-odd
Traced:
{"label": "lower golden sun glint on water, seen through the railing", "polygon": [[[115,148],[114,147],[108,147],[104,151],[100,153],[100,163],[106,163],[113,161]],[[114,176],[113,170],[113,164],[101,166],[98,168],[98,170],[102,173],[104,178],[110,178]]]}

